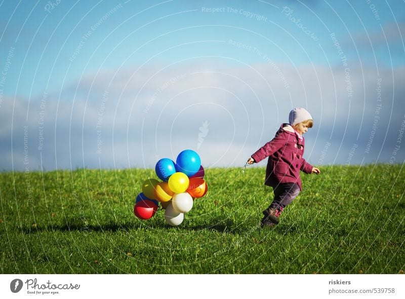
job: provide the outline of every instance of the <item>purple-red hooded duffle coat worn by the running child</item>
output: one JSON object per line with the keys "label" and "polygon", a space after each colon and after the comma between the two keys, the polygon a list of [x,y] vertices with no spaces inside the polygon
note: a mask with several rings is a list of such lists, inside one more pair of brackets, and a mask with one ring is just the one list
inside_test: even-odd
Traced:
{"label": "purple-red hooded duffle coat worn by the running child", "polygon": [[293,127],[282,124],[275,137],[260,147],[252,158],[259,163],[269,157],[264,184],[275,188],[279,183],[297,183],[302,190],[300,170],[311,173],[312,165],[305,161],[304,138],[300,140]]}

